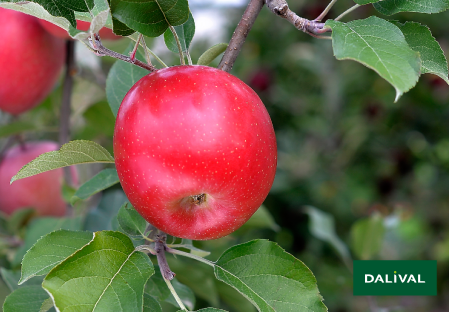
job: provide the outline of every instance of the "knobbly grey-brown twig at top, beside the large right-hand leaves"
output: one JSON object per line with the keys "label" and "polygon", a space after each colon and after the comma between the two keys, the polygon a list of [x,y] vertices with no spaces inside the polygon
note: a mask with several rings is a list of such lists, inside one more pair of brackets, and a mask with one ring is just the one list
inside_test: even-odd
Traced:
{"label": "knobbly grey-brown twig at top, beside the large right-hand leaves", "polygon": [[324,23],[299,17],[295,12],[289,9],[287,1],[285,0],[266,0],[266,3],[271,12],[285,18],[292,23],[296,29],[313,37],[323,39],[326,37],[320,36],[321,34],[332,31],[330,28],[324,27]]}

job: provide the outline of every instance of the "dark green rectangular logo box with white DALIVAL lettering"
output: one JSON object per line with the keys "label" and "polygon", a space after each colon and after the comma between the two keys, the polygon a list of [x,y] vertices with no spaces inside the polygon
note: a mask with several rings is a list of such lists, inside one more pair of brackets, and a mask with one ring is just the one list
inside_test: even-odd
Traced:
{"label": "dark green rectangular logo box with white DALIVAL lettering", "polygon": [[354,296],[436,296],[436,260],[354,260]]}

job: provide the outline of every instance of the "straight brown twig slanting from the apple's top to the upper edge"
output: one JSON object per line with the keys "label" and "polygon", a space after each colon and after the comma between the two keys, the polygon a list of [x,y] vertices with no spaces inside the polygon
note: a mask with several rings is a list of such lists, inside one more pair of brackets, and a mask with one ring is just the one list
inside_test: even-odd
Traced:
{"label": "straight brown twig slanting from the apple's top to the upper edge", "polygon": [[220,64],[218,64],[218,69],[228,73],[231,71],[234,62],[242,49],[243,43],[245,43],[245,39],[259,15],[260,10],[262,10],[264,3],[265,0],[251,0],[249,2],[245,13],[243,13],[242,19],[232,35],[228,48],[226,49]]}

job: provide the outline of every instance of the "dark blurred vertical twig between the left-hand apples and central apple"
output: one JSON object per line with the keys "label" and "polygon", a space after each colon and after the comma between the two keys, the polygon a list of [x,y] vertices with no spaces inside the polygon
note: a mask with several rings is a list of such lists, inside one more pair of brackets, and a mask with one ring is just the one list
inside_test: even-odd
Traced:
{"label": "dark blurred vertical twig between the left-hand apples and central apple", "polygon": [[[59,145],[64,145],[70,140],[70,111],[73,88],[73,75],[75,68],[75,41],[66,41],[65,76],[62,86],[62,103],[59,116]],[[64,167],[64,180],[67,185],[72,186],[72,174],[70,167]]]}

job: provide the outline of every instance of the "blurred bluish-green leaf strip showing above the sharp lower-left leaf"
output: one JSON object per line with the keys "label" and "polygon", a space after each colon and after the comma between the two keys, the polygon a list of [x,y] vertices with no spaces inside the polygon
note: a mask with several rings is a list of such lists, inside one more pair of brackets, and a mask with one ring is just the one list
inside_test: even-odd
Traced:
{"label": "blurred bluish-green leaf strip showing above the sharp lower-left leaf", "polygon": [[28,226],[25,233],[25,243],[20,247],[12,261],[12,265],[19,265],[23,256],[42,236],[56,230],[81,230],[81,217],[76,218],[37,218]]}

